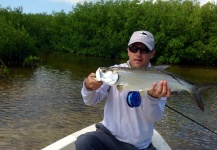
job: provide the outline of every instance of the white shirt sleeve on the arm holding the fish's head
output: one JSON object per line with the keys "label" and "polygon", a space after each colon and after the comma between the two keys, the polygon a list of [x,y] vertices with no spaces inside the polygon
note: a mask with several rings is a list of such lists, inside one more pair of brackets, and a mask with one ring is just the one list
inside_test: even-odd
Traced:
{"label": "white shirt sleeve on the arm holding the fish's head", "polygon": [[[85,81],[84,81],[85,82]],[[84,103],[88,106],[96,105],[98,102],[103,100],[108,93],[109,85],[103,83],[103,85],[97,90],[89,90],[85,87],[83,82],[83,87],[81,89],[81,94]]]}

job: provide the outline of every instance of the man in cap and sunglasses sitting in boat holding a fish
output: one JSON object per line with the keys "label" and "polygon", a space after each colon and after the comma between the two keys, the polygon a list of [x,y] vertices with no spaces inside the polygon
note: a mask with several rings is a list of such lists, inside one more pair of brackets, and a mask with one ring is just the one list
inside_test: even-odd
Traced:
{"label": "man in cap and sunglasses sitting in boat holding a fish", "polygon": [[[151,67],[150,59],[155,54],[154,37],[148,31],[136,31],[128,43],[129,60],[119,67]],[[142,97],[139,107],[131,108],[126,102],[128,93],[119,92],[94,79],[91,73],[84,81],[82,96],[86,105],[96,105],[107,96],[104,119],[96,124],[97,131],[78,137],[77,150],[155,150],[152,145],[154,123],[163,117],[166,97],[170,88],[166,81],[153,83]],[[141,83],[142,84],[142,83]]]}

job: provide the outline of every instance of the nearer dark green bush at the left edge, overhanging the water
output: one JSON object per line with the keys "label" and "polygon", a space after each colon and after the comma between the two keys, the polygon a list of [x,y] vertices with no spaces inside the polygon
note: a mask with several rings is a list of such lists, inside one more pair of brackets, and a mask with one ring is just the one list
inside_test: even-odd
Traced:
{"label": "nearer dark green bush at the left edge, overhanging the water", "polygon": [[[1,9],[0,13],[2,13]],[[7,65],[20,64],[25,57],[35,54],[34,40],[17,21],[19,19],[13,20],[19,16],[17,13],[20,11],[15,10],[0,16],[0,59]]]}

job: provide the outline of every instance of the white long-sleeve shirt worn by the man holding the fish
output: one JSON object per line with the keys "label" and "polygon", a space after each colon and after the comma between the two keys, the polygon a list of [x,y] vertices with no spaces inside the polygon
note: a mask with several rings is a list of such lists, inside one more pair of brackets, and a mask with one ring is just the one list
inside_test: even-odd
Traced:
{"label": "white long-sleeve shirt worn by the man holding the fish", "polygon": [[[130,67],[130,64],[127,61],[115,66]],[[139,107],[131,108],[126,101],[129,92],[119,92],[115,86],[105,83],[95,91],[86,89],[85,85],[81,90],[84,103],[89,106],[96,105],[107,96],[102,124],[118,140],[144,149],[151,143],[154,123],[163,118],[166,98],[153,98],[146,94]]]}

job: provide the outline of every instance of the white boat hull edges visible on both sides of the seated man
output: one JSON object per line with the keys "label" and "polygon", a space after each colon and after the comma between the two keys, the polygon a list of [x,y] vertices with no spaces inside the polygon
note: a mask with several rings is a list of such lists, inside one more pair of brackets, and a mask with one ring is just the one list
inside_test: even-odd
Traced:
{"label": "white boat hull edges visible on both sides of the seated man", "polygon": [[[42,150],[75,150],[75,141],[77,137],[86,132],[91,132],[95,130],[96,130],[95,124],[90,125],[84,129],[81,129],[75,133],[72,133],[52,143],[51,145],[48,145]],[[170,146],[167,144],[167,142],[163,139],[163,137],[156,130],[154,130],[154,134],[152,137],[152,143],[154,147],[156,147],[157,150],[171,150]]]}

